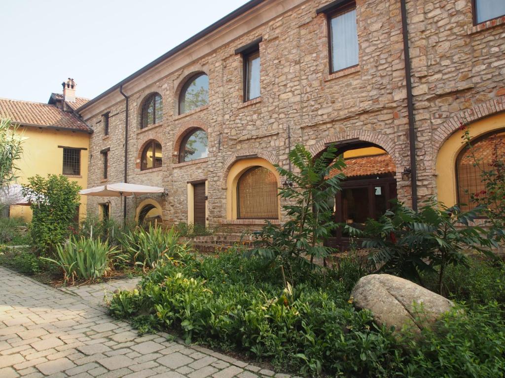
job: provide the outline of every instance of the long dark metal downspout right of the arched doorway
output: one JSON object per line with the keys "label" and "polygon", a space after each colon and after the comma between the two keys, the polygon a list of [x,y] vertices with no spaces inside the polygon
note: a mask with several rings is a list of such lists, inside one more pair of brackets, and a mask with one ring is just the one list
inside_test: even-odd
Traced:
{"label": "long dark metal downspout right of the arched doorway", "polygon": [[416,162],[416,129],[414,127],[414,101],[412,97],[412,75],[409,51],[409,32],[407,30],[406,0],[400,0],[401,33],[403,36],[403,56],[405,57],[405,81],[407,83],[407,109],[409,112],[409,144],[411,164],[412,209],[417,211],[417,162]]}

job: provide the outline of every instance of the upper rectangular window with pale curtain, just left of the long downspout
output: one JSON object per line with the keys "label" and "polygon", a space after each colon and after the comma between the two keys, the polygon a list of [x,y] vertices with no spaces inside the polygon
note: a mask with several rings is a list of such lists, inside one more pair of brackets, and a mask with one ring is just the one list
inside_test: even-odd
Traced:
{"label": "upper rectangular window with pale curtain, just left of the long downspout", "polygon": [[358,28],[356,6],[340,9],[329,15],[331,72],[358,65]]}

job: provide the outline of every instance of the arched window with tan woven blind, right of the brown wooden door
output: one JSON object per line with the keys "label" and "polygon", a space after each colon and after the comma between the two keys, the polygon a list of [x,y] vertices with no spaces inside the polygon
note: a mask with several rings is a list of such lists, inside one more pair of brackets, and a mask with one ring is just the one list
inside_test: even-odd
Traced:
{"label": "arched window with tan woven blind, right of the brown wooden door", "polygon": [[237,182],[238,219],[278,219],[277,179],[264,167],[246,170]]}

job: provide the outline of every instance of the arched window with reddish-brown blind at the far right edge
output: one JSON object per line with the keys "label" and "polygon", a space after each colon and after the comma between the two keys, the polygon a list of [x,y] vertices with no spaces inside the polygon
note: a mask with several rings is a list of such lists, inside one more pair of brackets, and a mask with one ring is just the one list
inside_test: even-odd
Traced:
{"label": "arched window with reddish-brown blind at the far right edge", "polygon": [[481,178],[482,171],[492,170],[493,167],[490,164],[504,158],[505,130],[503,129],[472,141],[472,151],[465,147],[460,152],[456,159],[456,180],[458,203],[463,204],[462,210],[474,209],[476,204],[472,202],[472,195],[485,191],[485,183]]}

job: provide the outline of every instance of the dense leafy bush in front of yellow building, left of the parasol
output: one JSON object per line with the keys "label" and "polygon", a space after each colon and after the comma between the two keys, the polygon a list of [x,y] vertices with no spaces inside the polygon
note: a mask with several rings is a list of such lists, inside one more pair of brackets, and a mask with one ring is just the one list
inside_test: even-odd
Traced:
{"label": "dense leafy bush in front of yellow building, left of the parasol", "polygon": [[23,185],[23,195],[31,199],[30,225],[32,246],[40,255],[52,252],[71,232],[70,226],[79,206],[81,187],[63,175],[36,175]]}

